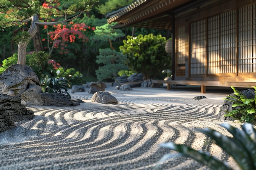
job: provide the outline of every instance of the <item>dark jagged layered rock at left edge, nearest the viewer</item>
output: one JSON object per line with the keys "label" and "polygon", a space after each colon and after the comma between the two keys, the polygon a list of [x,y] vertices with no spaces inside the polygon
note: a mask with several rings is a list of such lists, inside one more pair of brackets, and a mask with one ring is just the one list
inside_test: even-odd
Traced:
{"label": "dark jagged layered rock at left edge, nearest the viewer", "polygon": [[34,112],[20,102],[20,97],[0,95],[0,132],[13,128],[15,122],[34,118]]}

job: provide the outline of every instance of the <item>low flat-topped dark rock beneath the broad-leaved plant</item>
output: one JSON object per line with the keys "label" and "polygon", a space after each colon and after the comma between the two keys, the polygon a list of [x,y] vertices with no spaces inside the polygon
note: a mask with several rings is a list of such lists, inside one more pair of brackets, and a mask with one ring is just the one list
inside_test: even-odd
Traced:
{"label": "low flat-topped dark rock beneath the broad-leaved plant", "polygon": [[63,93],[40,93],[44,106],[71,106],[68,95]]}

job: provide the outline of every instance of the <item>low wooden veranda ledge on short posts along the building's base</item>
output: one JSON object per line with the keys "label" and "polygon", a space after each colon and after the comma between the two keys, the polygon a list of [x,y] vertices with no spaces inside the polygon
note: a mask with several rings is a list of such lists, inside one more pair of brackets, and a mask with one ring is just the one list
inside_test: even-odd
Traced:
{"label": "low wooden veranda ledge on short posts along the building's base", "polygon": [[153,79],[154,84],[167,84],[167,90],[171,90],[171,84],[201,86],[201,93],[206,93],[206,86],[222,86],[222,87],[252,87],[256,86],[256,82],[221,82],[221,81],[196,81],[196,80],[157,80]]}

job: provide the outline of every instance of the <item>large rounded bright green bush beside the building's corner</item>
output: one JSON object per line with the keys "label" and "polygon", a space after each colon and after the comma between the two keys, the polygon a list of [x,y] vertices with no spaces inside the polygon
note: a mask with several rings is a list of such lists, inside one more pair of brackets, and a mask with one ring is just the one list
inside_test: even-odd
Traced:
{"label": "large rounded bright green bush beside the building's corner", "polygon": [[142,73],[146,79],[155,79],[162,70],[171,68],[171,57],[165,51],[166,38],[162,35],[128,35],[123,43],[119,48],[128,55],[130,70]]}

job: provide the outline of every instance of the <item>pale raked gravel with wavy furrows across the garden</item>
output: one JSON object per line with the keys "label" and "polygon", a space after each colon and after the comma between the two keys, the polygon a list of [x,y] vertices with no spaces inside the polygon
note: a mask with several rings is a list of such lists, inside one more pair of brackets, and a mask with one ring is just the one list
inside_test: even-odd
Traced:
{"label": "pale raked gravel with wavy furrows across the garden", "polygon": [[[151,170],[173,141],[206,150],[221,160],[232,159],[195,128],[209,127],[229,135],[216,115],[227,94],[166,91],[162,88],[106,88],[118,104],[91,103],[92,94],[79,92],[76,107],[28,107],[35,118],[0,133],[0,170]],[[229,122],[233,126],[239,124]],[[158,170],[209,170],[171,151]]]}

